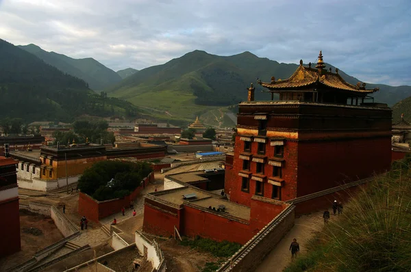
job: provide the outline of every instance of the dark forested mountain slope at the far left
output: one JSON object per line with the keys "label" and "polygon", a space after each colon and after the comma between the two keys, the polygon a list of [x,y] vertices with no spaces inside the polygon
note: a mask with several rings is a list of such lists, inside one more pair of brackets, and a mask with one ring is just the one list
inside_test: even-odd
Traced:
{"label": "dark forested mountain slope at the far left", "polygon": [[66,74],[0,39],[2,118],[71,122],[79,115],[136,115],[138,109],[104,92],[95,94],[86,81]]}

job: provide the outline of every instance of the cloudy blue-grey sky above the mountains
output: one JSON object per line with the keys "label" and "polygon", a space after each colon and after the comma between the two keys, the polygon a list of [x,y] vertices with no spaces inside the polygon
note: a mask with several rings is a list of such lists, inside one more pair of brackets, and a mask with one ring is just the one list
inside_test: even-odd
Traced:
{"label": "cloudy blue-grey sky above the mountains", "polygon": [[113,70],[195,49],[325,62],[371,83],[411,85],[411,1],[0,0],[0,38]]}

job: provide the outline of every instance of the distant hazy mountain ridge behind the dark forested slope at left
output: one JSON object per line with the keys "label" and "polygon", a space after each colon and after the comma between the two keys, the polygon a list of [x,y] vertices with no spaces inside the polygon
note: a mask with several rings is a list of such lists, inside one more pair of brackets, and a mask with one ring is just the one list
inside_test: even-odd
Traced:
{"label": "distant hazy mountain ridge behind the dark forested slope at left", "polygon": [[95,91],[103,90],[105,87],[122,80],[119,74],[103,66],[103,64],[91,57],[87,57],[86,59],[73,59],[55,52],[47,52],[35,44],[18,47],[36,55],[47,64],[58,68],[58,70],[62,72],[83,79],[88,83],[89,87]]}

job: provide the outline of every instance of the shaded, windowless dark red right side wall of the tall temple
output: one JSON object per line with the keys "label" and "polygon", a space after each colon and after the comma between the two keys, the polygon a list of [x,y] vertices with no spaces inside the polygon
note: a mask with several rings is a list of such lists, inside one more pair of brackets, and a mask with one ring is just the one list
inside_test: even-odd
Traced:
{"label": "shaded, windowless dark red right side wall of the tall temple", "polygon": [[384,172],[390,163],[390,137],[300,141],[297,197]]}

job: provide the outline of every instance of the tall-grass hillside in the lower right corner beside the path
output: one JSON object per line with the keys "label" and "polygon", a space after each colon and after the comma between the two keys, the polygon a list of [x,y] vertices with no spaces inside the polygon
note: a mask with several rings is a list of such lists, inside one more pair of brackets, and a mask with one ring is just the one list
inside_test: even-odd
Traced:
{"label": "tall-grass hillside in the lower right corner beside the path", "polygon": [[410,162],[366,185],[285,271],[411,271]]}

